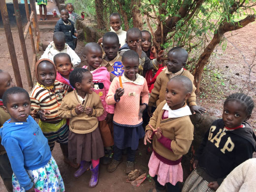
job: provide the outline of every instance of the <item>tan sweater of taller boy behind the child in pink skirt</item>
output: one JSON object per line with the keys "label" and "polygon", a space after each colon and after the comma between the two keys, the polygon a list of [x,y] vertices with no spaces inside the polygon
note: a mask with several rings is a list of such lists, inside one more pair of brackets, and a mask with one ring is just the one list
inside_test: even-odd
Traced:
{"label": "tan sweater of taller boy behind the child in pink skirt", "polygon": [[[165,73],[166,69],[163,69],[162,72],[160,72],[160,74],[157,77],[157,80],[154,84],[154,88],[150,94],[149,97],[149,106],[153,106],[155,103],[158,106],[160,104],[160,102],[162,102],[163,100],[165,100],[165,89],[166,89],[166,85],[168,83],[168,81],[171,79],[171,75],[170,74],[166,74]],[[188,77],[192,83],[194,82],[194,76],[190,73],[190,71],[188,70],[183,70],[181,71],[181,73],[177,74],[177,75],[183,75]],[[195,86],[193,85],[193,90],[191,93],[191,97],[188,99],[189,101],[189,106],[192,105],[196,105],[195,103]]]}

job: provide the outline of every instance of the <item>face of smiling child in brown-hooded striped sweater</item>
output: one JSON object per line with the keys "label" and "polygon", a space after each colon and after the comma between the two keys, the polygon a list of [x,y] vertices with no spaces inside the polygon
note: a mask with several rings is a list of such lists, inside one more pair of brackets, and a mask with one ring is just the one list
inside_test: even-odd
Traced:
{"label": "face of smiling child in brown-hooded striped sweater", "polygon": [[53,64],[41,62],[37,67],[37,73],[40,82],[42,82],[44,86],[49,87],[54,84],[56,73]]}

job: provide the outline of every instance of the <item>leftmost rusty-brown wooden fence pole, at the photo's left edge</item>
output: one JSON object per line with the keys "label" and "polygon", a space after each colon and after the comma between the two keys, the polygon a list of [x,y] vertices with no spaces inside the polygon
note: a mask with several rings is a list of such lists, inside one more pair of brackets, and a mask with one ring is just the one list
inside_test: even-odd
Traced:
{"label": "leftmost rusty-brown wooden fence pole, at the photo's left edge", "polygon": [[8,49],[11,57],[11,63],[12,63],[16,85],[18,87],[23,88],[5,0],[0,0],[0,11],[2,16],[3,28],[4,28],[4,32],[7,40],[7,45],[8,45]]}

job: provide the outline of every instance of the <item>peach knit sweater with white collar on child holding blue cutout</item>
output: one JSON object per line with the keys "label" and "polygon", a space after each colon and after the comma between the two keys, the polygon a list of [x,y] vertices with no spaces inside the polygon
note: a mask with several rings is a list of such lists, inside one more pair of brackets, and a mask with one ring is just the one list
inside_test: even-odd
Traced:
{"label": "peach knit sweater with white collar on child holding blue cutout", "polygon": [[139,119],[140,97],[141,103],[149,101],[149,90],[147,81],[144,77],[136,74],[135,81],[128,80],[124,75],[122,76],[122,83],[125,93],[121,96],[120,101],[116,102],[114,95],[117,88],[120,87],[119,78],[115,77],[110,85],[106,102],[109,105],[116,104],[113,121],[122,126],[136,126],[142,122]]}

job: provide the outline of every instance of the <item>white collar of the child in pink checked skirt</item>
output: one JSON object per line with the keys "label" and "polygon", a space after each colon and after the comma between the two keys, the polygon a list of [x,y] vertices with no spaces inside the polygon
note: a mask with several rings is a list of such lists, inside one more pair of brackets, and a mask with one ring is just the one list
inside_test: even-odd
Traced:
{"label": "white collar of the child in pink checked skirt", "polygon": [[168,111],[168,118],[178,118],[178,117],[184,117],[187,115],[192,115],[190,111],[190,107],[185,103],[183,107],[171,110],[171,108],[168,106],[167,103],[165,103],[162,107],[162,110]]}

